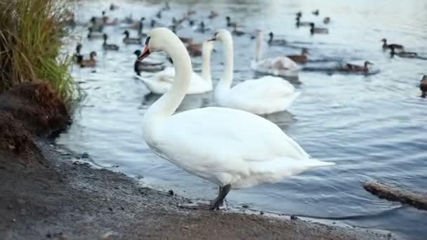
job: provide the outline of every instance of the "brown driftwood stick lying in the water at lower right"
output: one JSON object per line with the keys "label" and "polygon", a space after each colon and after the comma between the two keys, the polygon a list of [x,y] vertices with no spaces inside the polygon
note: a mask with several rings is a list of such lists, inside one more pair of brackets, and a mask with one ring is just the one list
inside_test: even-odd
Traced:
{"label": "brown driftwood stick lying in the water at lower right", "polygon": [[381,182],[367,181],[363,183],[364,189],[378,196],[380,199],[400,201],[415,208],[427,210],[427,195],[409,192],[405,189],[383,184]]}

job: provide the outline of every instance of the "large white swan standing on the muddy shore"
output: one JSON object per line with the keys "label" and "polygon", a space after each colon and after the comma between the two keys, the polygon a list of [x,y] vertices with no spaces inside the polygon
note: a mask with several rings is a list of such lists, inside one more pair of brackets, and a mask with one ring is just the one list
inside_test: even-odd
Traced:
{"label": "large white swan standing on the muddy shore", "polygon": [[143,138],[158,156],[188,173],[219,185],[211,209],[218,209],[231,188],[250,187],[334,163],[311,159],[272,122],[256,114],[204,107],[173,114],[190,86],[190,55],[169,29],[148,34],[140,60],[151,52],[168,53],[175,80],[143,117]]}

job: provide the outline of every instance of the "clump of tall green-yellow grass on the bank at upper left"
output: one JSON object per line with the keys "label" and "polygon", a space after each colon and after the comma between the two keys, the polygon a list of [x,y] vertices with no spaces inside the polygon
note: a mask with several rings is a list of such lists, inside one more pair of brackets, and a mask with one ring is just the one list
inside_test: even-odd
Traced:
{"label": "clump of tall green-yellow grass on the bank at upper left", "polygon": [[65,102],[76,85],[61,54],[70,12],[61,0],[0,0],[0,93],[15,84],[48,81]]}

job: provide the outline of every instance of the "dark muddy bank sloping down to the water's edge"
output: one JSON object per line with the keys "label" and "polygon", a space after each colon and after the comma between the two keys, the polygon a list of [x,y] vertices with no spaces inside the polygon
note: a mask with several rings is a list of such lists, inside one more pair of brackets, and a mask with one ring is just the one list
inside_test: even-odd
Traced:
{"label": "dark muddy bank sloping down to the water's edge", "polygon": [[[45,137],[51,131],[40,133],[25,119],[22,124],[16,114],[20,111],[1,111],[4,104],[0,102],[0,116],[7,115],[0,117],[0,239],[396,238],[299,219],[178,208],[188,199],[141,187],[121,173],[92,168],[53,145]],[[46,118],[48,112],[39,115]],[[65,116],[58,119],[61,124],[54,126],[59,129],[67,121]]]}

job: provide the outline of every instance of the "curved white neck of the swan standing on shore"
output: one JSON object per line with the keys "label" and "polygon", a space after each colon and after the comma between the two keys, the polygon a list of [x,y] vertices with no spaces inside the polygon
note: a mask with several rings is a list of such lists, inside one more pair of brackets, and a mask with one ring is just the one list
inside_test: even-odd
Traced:
{"label": "curved white neck of the swan standing on shore", "polygon": [[173,39],[171,44],[164,47],[164,51],[173,60],[173,67],[175,68],[175,79],[169,91],[162,95],[146,112],[145,117],[152,119],[152,121],[159,121],[171,116],[187,93],[190,86],[192,66],[190,55],[185,48],[184,44],[179,41],[178,37]]}

